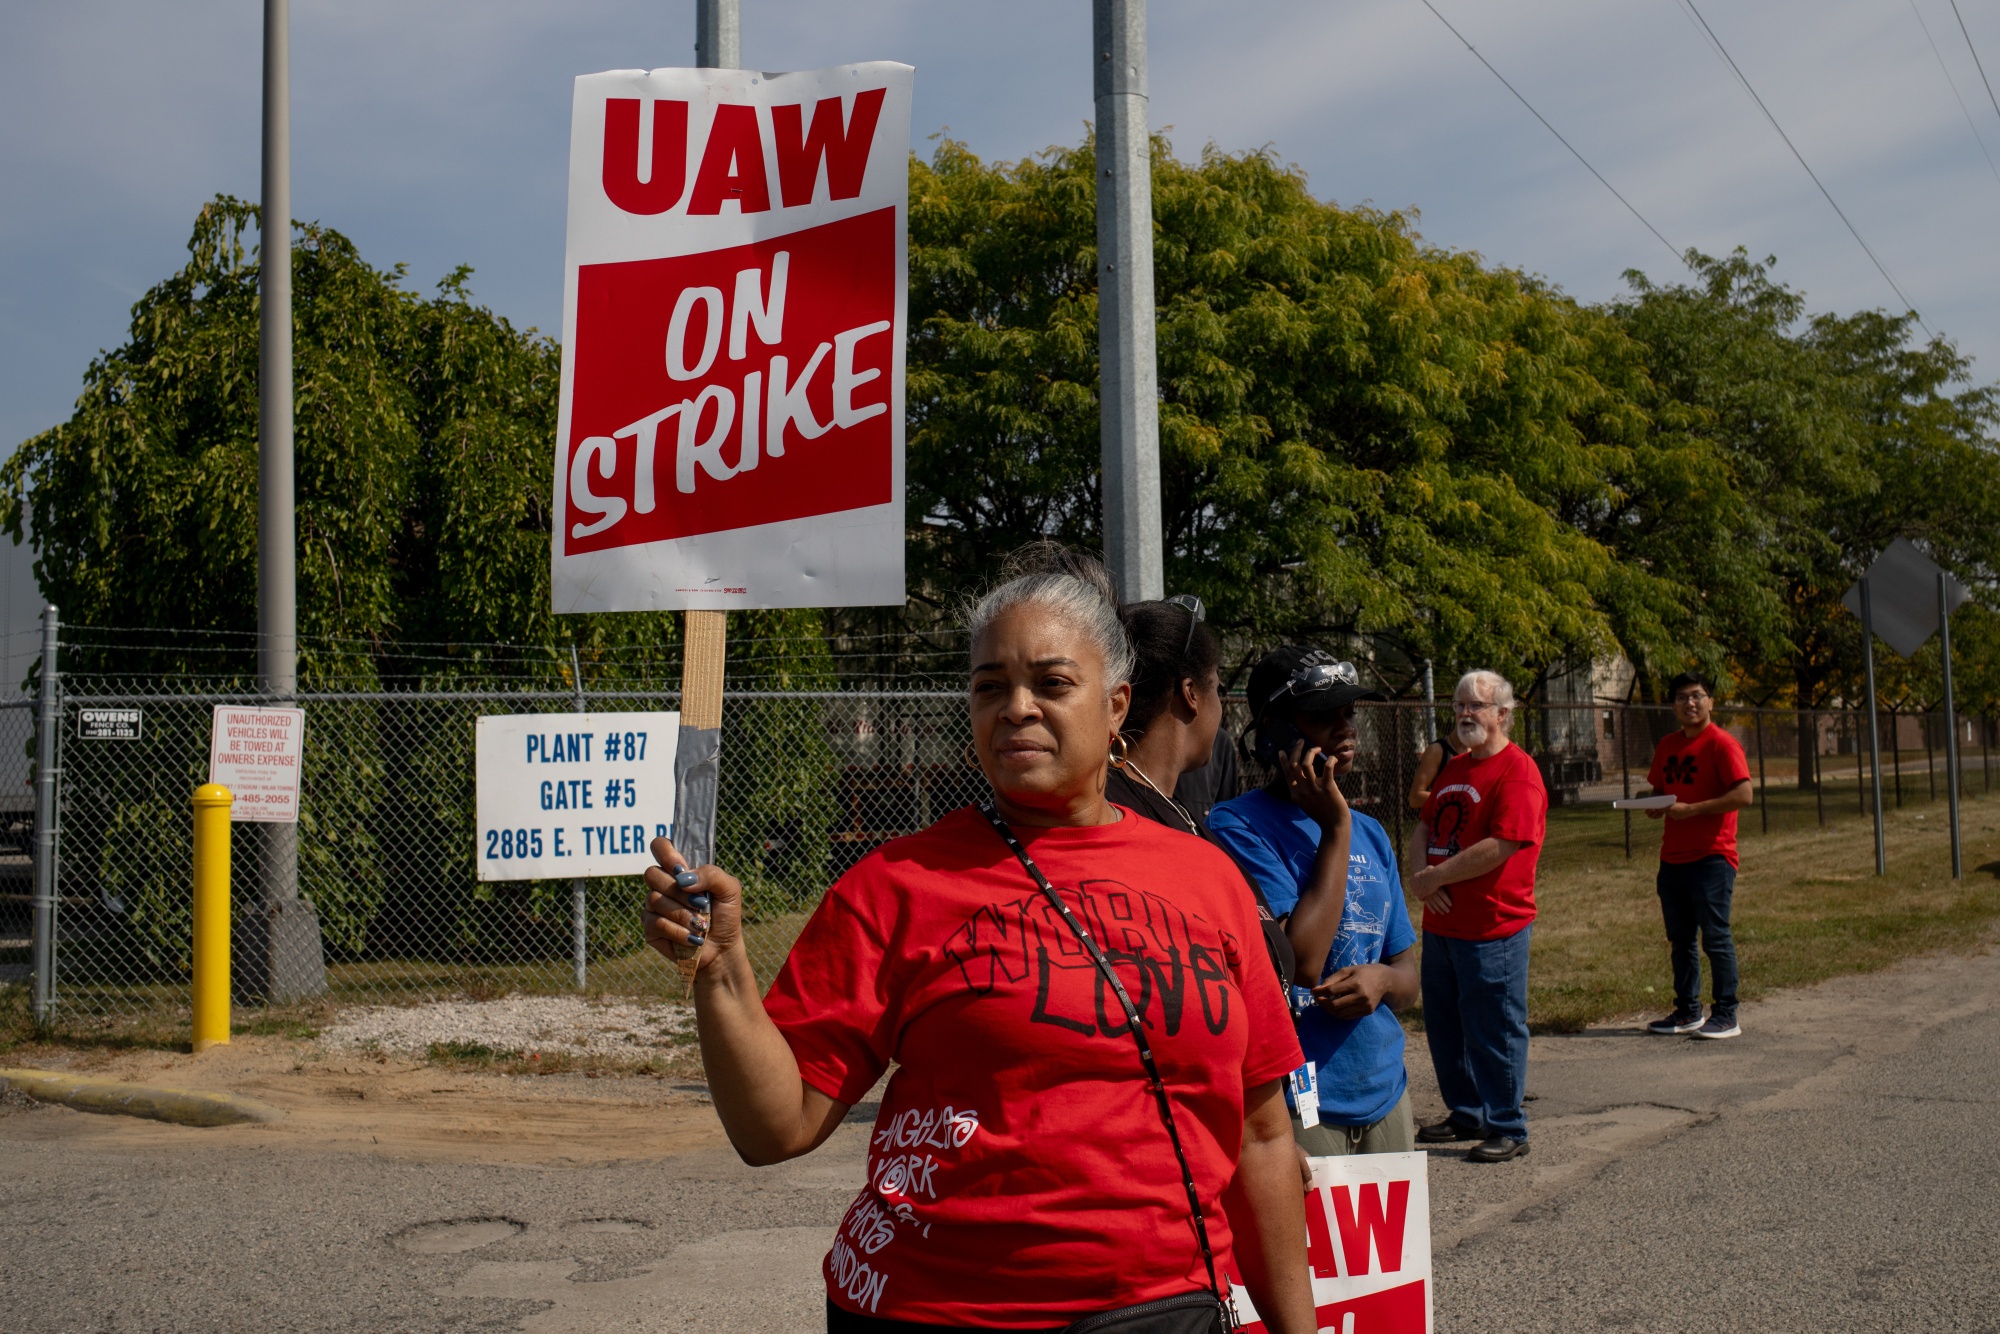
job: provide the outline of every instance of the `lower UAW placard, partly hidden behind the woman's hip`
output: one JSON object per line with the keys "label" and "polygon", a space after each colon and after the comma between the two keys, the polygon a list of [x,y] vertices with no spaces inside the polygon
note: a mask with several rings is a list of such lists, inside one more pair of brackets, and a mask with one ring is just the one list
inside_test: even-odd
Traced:
{"label": "lower UAW placard, partly hidden behind the woman's hip", "polygon": [[[1430,1158],[1314,1158],[1306,1190],[1306,1264],[1318,1328],[1328,1334],[1430,1334]],[[1242,1284],[1244,1334],[1264,1322]]]}

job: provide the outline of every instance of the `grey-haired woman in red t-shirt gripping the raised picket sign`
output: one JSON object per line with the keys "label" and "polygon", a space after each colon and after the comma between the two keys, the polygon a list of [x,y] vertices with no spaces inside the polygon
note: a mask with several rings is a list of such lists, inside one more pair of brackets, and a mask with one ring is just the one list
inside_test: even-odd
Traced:
{"label": "grey-haired woman in red t-shirt gripping the raised picket sign", "polygon": [[992,802],[848,870],[766,998],[742,886],[664,838],[646,938],[696,962],[746,1162],[812,1152],[896,1062],[826,1258],[830,1332],[1214,1334],[1234,1274],[1266,1328],[1306,1334],[1300,1052],[1256,906],[1220,850],[1104,800],[1132,648],[1102,570],[1060,564],[970,618]]}

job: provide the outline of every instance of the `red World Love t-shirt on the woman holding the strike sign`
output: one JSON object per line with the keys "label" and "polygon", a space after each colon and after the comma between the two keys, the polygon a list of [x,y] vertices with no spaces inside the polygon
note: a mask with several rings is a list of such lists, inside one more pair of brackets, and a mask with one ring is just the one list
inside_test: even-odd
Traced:
{"label": "red World Love t-shirt on the woman holding the strike sign", "polygon": [[[1140,1010],[1222,1270],[1244,1090],[1304,1060],[1250,886],[1220,848],[1130,810],[1016,836]],[[826,1256],[836,1304],[1046,1328],[1208,1286],[1118,998],[976,810],[844,874],[764,1008],[838,1102],[896,1062]]]}

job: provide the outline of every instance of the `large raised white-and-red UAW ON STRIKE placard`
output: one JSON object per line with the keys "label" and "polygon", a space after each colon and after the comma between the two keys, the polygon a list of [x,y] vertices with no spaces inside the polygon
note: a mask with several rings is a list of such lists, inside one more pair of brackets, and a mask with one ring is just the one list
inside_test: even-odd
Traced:
{"label": "large raised white-and-red UAW ON STRIKE placard", "polygon": [[910,76],[576,80],[558,612],[902,602]]}

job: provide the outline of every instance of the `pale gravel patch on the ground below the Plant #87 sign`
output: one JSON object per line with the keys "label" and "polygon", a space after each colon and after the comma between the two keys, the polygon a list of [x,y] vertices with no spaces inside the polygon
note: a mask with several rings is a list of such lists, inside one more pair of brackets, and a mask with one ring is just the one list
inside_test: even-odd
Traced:
{"label": "pale gravel patch on the ground below the Plant #87 sign", "polygon": [[494,1052],[566,1052],[572,1056],[638,1054],[676,1046],[694,1028],[684,1004],[584,1000],[582,996],[506,996],[436,1000],[422,1006],[356,1006],[320,1030],[338,1048],[422,1056],[434,1042],[464,1042]]}

